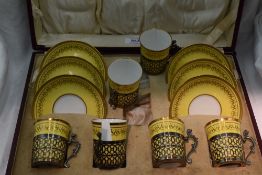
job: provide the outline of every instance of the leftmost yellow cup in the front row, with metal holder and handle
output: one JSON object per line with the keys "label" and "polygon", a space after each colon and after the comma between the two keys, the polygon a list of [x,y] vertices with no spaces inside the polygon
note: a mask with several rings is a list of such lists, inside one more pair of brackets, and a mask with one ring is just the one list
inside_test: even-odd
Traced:
{"label": "leftmost yellow cup in the front row, with metal holder and handle", "polygon": [[[75,145],[72,154],[67,157],[68,146]],[[81,147],[71,126],[56,118],[41,119],[34,123],[32,146],[32,168],[69,168],[69,161],[75,157]]]}

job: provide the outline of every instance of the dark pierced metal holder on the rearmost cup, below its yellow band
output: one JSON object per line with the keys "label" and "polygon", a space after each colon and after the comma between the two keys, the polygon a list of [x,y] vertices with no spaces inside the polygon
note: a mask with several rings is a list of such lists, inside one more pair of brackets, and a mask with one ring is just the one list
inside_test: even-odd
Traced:
{"label": "dark pierced metal holder on the rearmost cup, below its yellow band", "polygon": [[152,75],[157,75],[165,71],[169,57],[161,60],[150,60],[141,55],[140,64],[143,70]]}

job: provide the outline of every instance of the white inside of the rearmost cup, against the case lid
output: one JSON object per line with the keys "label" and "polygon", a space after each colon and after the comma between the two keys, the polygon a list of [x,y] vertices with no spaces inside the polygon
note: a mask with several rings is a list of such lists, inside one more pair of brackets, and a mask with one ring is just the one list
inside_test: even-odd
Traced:
{"label": "white inside of the rearmost cup, against the case lid", "polygon": [[172,38],[166,31],[153,28],[141,34],[140,43],[149,50],[161,51],[170,47]]}

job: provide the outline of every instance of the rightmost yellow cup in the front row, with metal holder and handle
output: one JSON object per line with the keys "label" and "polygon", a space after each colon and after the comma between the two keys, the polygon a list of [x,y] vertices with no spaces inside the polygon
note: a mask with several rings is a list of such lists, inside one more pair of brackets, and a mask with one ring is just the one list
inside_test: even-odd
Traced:
{"label": "rightmost yellow cup in the front row, with metal holder and handle", "polygon": [[[212,166],[250,165],[248,157],[255,152],[256,141],[244,130],[240,135],[240,121],[234,118],[221,118],[208,122],[205,126]],[[244,144],[251,143],[245,157]]]}

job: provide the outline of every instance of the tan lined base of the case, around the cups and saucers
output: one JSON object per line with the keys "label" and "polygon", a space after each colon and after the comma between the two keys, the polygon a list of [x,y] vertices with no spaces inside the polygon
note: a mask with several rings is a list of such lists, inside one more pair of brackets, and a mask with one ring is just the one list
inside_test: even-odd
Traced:
{"label": "tan lined base of the case, around the cups and saucers", "polygon": [[[139,55],[135,54],[105,54],[104,59],[108,66],[116,59],[129,58],[138,60]],[[93,141],[92,141],[92,125],[91,120],[94,116],[83,114],[55,114],[45,117],[56,117],[66,120],[72,126],[73,132],[77,134],[77,138],[82,144],[81,150],[77,157],[70,161],[70,168],[53,168],[53,169],[36,169],[31,168],[31,150],[33,140],[33,124],[32,119],[32,100],[34,96],[33,84],[34,84],[34,72],[38,69],[43,54],[34,54],[31,64],[31,69],[28,74],[27,93],[25,94],[24,108],[22,112],[21,129],[19,133],[19,139],[17,142],[17,151],[15,161],[13,163],[12,174],[27,174],[27,175],[71,175],[71,174],[97,174],[97,175],[158,175],[158,174],[195,174],[195,175],[209,175],[209,174],[225,174],[225,175],[238,175],[238,174],[252,174],[259,175],[262,171],[260,166],[262,157],[259,147],[255,149],[255,154],[252,154],[249,160],[252,162],[250,166],[246,167],[222,167],[213,168],[209,159],[208,143],[204,130],[204,126],[209,121],[220,118],[220,116],[187,116],[181,118],[186,129],[192,129],[193,134],[198,137],[197,152],[193,153],[192,164],[182,168],[153,168],[151,158],[151,145],[148,126],[129,126],[128,130],[128,145],[127,145],[127,166],[126,168],[119,168],[115,170],[100,170],[92,167],[93,161]],[[229,60],[233,61],[232,56],[228,56]],[[147,92],[151,94],[151,110],[153,119],[160,117],[166,117],[169,113],[169,104],[167,97],[167,84],[165,83],[164,74],[158,76],[149,76],[149,89]],[[108,87],[107,87],[108,88]],[[244,129],[249,131],[249,135],[255,139],[255,131],[253,122],[249,110],[246,105],[245,97],[242,92],[241,84],[238,81],[238,88],[243,105],[243,118],[241,120],[241,133]],[[108,91],[108,89],[107,89]],[[107,94],[106,100],[108,100],[109,94]],[[113,110],[108,105],[108,118],[123,119],[123,110],[117,108]],[[191,147],[191,142],[186,144],[186,151],[188,152]],[[248,153],[250,144],[245,144],[245,153]],[[68,154],[72,150],[69,149]]]}

